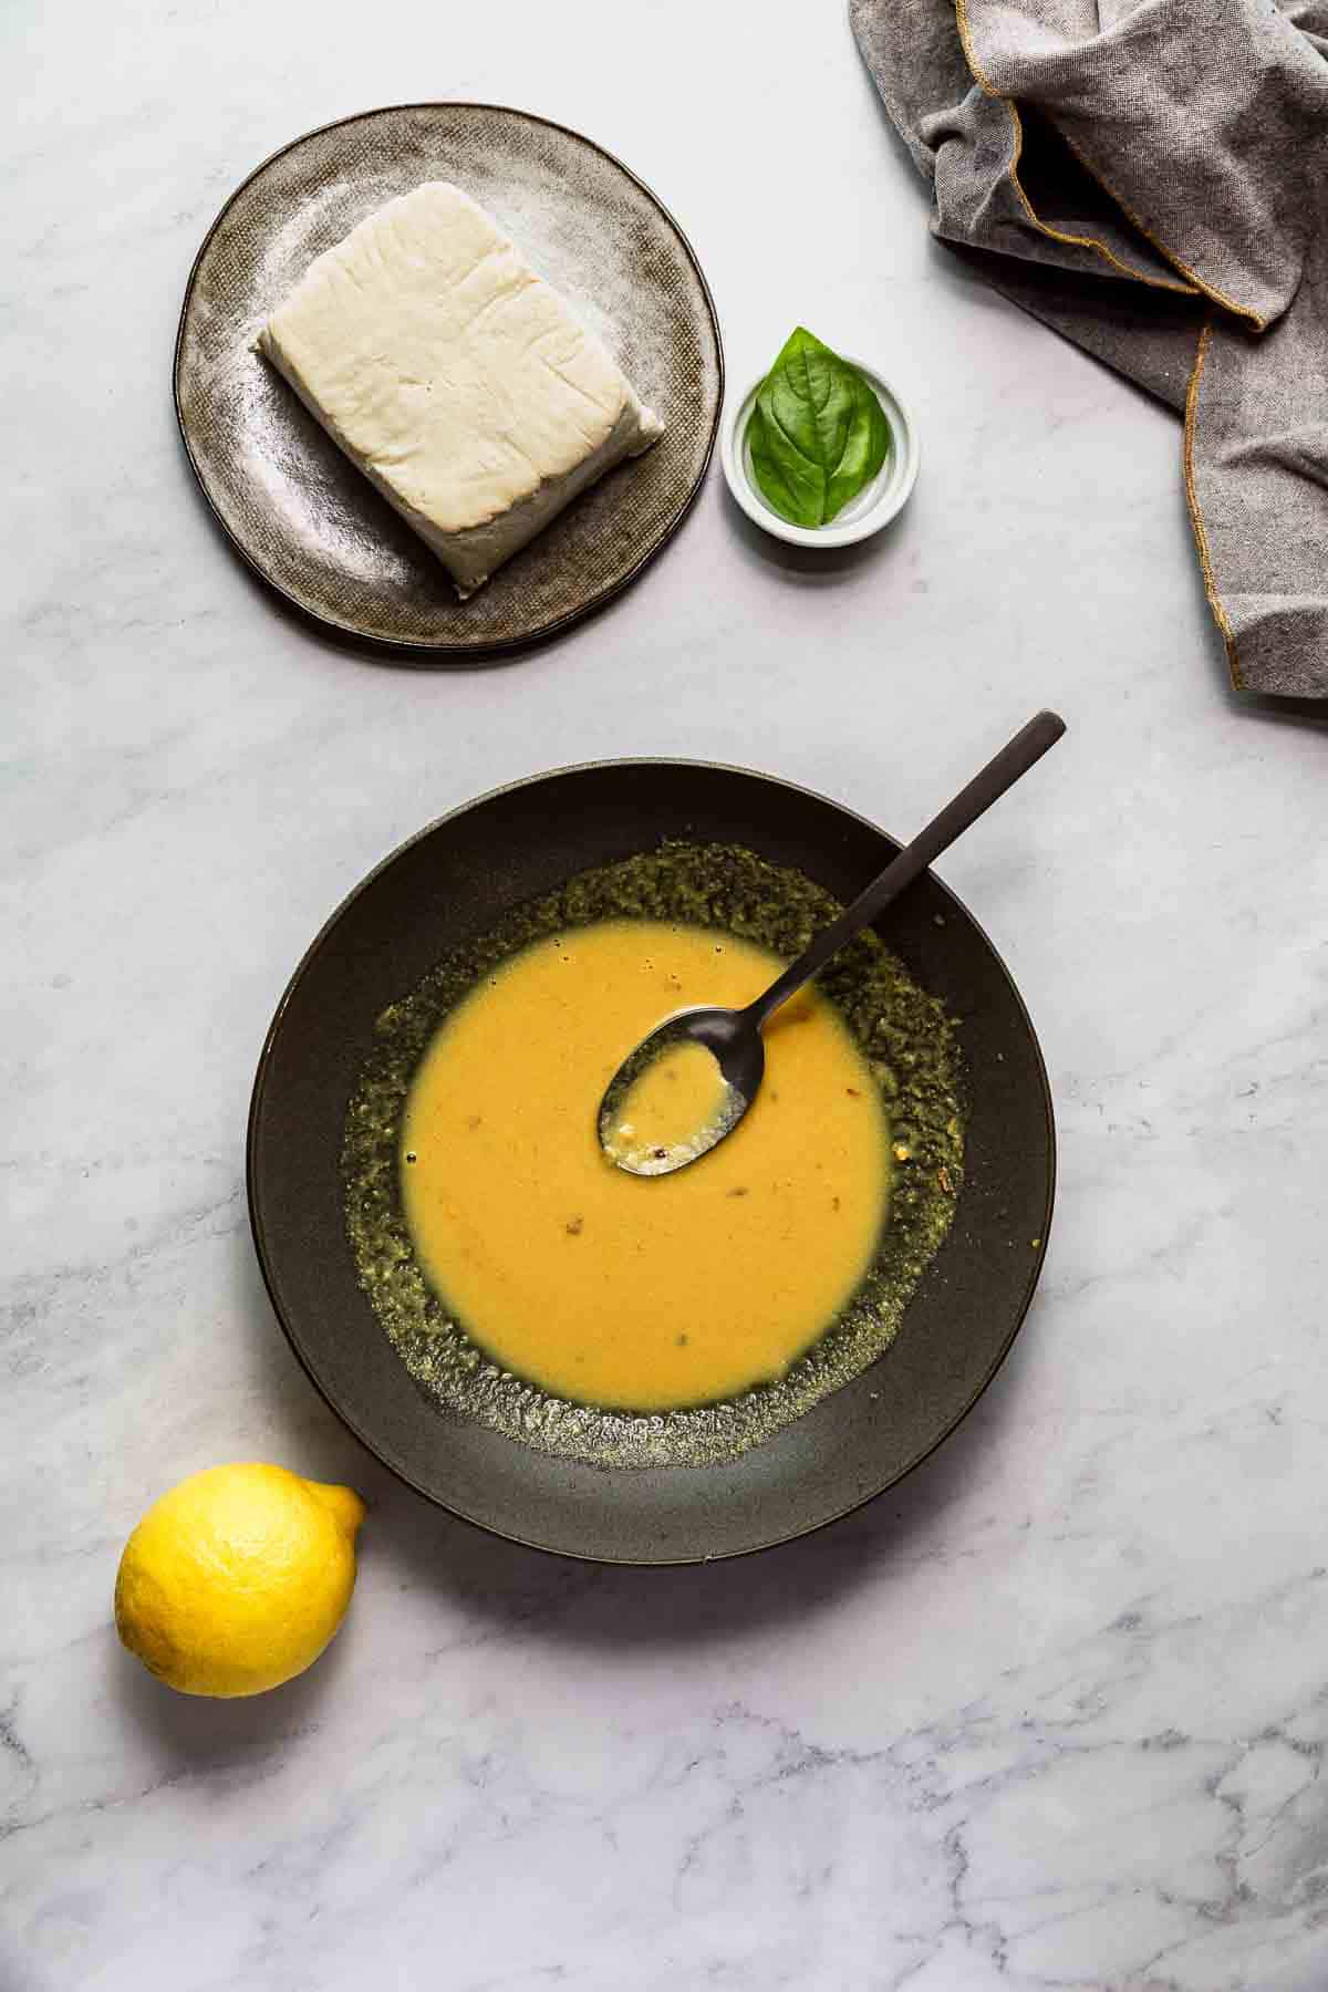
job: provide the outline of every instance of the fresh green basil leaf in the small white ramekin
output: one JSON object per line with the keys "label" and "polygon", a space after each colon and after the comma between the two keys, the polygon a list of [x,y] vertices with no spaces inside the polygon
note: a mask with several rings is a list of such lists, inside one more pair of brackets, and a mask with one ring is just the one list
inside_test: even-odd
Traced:
{"label": "fresh green basil leaf in the small white ramekin", "polygon": [[747,444],[778,516],[824,526],[880,472],[890,424],[858,369],[798,325],[757,390]]}

